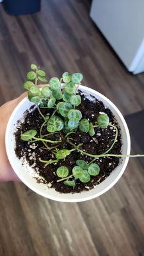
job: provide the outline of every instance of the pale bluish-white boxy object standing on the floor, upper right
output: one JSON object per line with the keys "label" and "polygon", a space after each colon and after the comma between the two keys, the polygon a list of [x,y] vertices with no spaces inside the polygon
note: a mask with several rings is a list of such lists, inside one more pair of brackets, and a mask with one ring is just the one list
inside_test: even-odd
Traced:
{"label": "pale bluish-white boxy object standing on the floor, upper right", "polygon": [[93,0],[90,16],[134,72],[144,54],[144,0]]}

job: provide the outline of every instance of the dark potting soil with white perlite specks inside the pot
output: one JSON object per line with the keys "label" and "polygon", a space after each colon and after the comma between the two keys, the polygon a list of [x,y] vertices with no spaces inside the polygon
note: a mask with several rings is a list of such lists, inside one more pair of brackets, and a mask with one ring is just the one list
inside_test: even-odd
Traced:
{"label": "dark potting soil with white perlite specks inside the pot", "polygon": [[[106,113],[109,116],[109,120],[112,124],[118,124],[115,120],[115,117],[111,113],[111,111],[104,106],[104,104],[95,99],[95,97],[91,95],[85,95],[83,92],[81,93],[81,104],[77,107],[83,115],[83,118],[88,118],[90,122],[95,124],[95,120],[97,120],[97,116],[102,112]],[[54,109],[41,109],[43,115],[50,115],[54,111]],[[58,113],[56,113],[58,115]],[[77,159],[83,159],[87,163],[92,161],[92,157],[85,156],[81,152],[77,152],[77,150],[72,151],[69,156],[64,159],[58,161],[58,163],[52,163],[44,166],[44,163],[39,161],[39,158],[49,161],[52,158],[51,151],[45,148],[45,145],[41,141],[35,141],[34,143],[29,143],[28,141],[20,140],[20,134],[29,130],[29,129],[36,129],[37,134],[39,136],[40,126],[43,124],[44,120],[42,116],[38,113],[38,109],[31,108],[31,112],[27,111],[24,116],[24,121],[18,123],[17,131],[15,132],[15,153],[17,157],[23,157],[22,159],[26,159],[29,163],[29,166],[34,168],[36,173],[39,173],[40,178],[38,178],[38,182],[47,183],[48,187],[56,189],[60,193],[79,193],[83,190],[88,190],[94,188],[97,184],[102,182],[102,180],[106,179],[109,174],[118,166],[120,163],[120,158],[118,157],[99,157],[99,159],[95,159],[95,162],[99,164],[100,172],[97,176],[91,176],[90,182],[83,183],[79,179],[76,180],[76,186],[70,187],[63,184],[63,181],[57,182],[60,179],[56,175],[56,170],[61,165],[67,166],[69,170],[69,174],[72,174],[72,168],[76,165]],[[47,134],[46,126],[42,129],[42,134]],[[67,138],[65,138],[65,133],[61,131],[60,133],[52,134],[52,136],[45,136],[47,140],[63,140],[60,143],[58,149],[67,148],[72,149],[72,146],[67,143]],[[106,129],[100,129],[99,127],[95,127],[95,135],[93,137],[89,136],[86,132],[81,132],[79,130],[76,131],[74,134],[70,134],[70,138],[72,138],[72,142],[75,145],[79,143],[83,143],[83,146],[80,148],[88,152],[90,154],[102,154],[106,152],[106,150],[111,146],[113,143],[113,139],[115,138],[115,131],[113,131],[112,127],[108,127]],[[49,147],[53,145],[47,144]],[[55,145],[55,144],[54,144]],[[120,128],[118,127],[118,139],[115,143],[115,146],[109,151],[109,154],[121,154],[121,134]],[[53,156],[54,157],[54,156]]]}

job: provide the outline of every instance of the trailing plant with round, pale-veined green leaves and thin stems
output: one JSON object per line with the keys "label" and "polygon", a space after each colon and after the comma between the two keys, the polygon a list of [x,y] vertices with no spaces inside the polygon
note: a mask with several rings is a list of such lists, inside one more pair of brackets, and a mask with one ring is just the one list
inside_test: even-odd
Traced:
{"label": "trailing plant with round, pale-veined green leaves and thin stems", "polygon": [[[83,118],[81,111],[77,109],[81,104],[81,95],[79,95],[78,88],[83,79],[82,74],[74,73],[71,75],[68,72],[64,72],[60,79],[58,77],[52,77],[49,79],[48,83],[45,71],[35,64],[31,64],[31,71],[28,72],[27,79],[28,81],[24,83],[24,88],[28,91],[28,99],[36,105],[40,118],[44,119],[44,122],[40,127],[39,134],[36,129],[30,129],[21,134],[21,140],[28,141],[29,143],[41,141],[45,148],[51,151],[52,160],[46,161],[44,159],[39,159],[45,166],[52,163],[58,163],[61,159],[65,161],[65,158],[75,150],[86,156],[92,157],[90,163],[86,163],[86,161],[83,161],[82,159],[77,159],[76,165],[72,170],[68,170],[67,166],[60,166],[56,170],[56,175],[61,179],[58,179],[57,182],[63,181],[63,184],[66,186],[73,187],[76,186],[76,180],[80,180],[83,183],[90,182],[92,176],[99,175],[99,164],[93,163],[96,159],[99,159],[99,157],[144,156],[109,154],[117,141],[118,128],[115,124],[109,122],[109,116],[105,113],[97,116],[97,120],[93,123],[89,122],[87,118]],[[39,88],[38,82],[44,83],[42,89]],[[47,115],[43,115],[43,108],[51,109],[51,115],[49,115],[49,110]],[[44,127],[47,129],[47,134],[42,134]],[[99,129],[109,129],[112,127],[115,135],[114,140],[111,141],[111,146],[107,148],[105,152],[99,155],[90,154],[83,150],[83,143],[79,145],[73,143],[74,139],[70,137],[70,134],[74,134],[77,129],[81,132],[86,132],[93,137],[95,135],[95,128],[97,127],[99,127]],[[63,138],[61,138],[61,132],[65,134]],[[45,139],[45,137],[47,138],[48,136],[51,138],[55,133],[58,134],[58,140]],[[63,140],[70,145],[71,149],[59,149]]]}

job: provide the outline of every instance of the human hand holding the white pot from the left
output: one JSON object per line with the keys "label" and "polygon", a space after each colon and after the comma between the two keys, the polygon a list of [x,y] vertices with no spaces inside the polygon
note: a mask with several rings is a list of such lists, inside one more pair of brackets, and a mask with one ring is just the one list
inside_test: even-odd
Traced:
{"label": "human hand holding the white pot from the left", "polygon": [[22,93],[20,97],[14,100],[10,100],[0,107],[0,182],[6,181],[20,181],[19,177],[15,174],[8,161],[5,148],[5,132],[6,125],[13,109],[19,104],[19,102],[26,97],[26,93]]}

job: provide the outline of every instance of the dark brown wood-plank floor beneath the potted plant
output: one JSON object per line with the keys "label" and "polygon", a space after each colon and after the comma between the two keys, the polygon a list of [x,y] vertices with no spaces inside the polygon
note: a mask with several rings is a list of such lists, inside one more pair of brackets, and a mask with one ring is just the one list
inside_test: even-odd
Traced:
{"label": "dark brown wood-plank floor beneath the potted plant", "polygon": [[[144,109],[144,74],[126,71],[89,12],[89,0],[44,0],[42,12],[21,17],[0,6],[0,104],[23,92],[33,62],[49,77],[83,73],[83,84],[104,93],[124,115]],[[1,183],[0,255],[144,255],[143,168],[131,159],[115,188],[79,204],[53,202],[23,184]]]}

